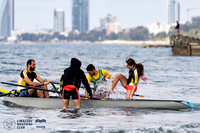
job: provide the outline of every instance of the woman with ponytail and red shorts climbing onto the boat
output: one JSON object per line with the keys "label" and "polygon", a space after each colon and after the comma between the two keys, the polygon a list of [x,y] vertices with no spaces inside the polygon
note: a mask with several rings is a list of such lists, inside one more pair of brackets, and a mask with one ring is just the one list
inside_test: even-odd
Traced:
{"label": "woman with ponytail and red shorts climbing onto the boat", "polygon": [[132,58],[126,59],[126,67],[129,69],[128,79],[121,73],[117,73],[112,83],[111,90],[113,91],[118,81],[121,82],[122,86],[127,90],[126,99],[133,99],[133,94],[137,91],[137,85],[140,78],[144,81],[147,80],[144,75],[144,66],[141,63],[136,64]]}

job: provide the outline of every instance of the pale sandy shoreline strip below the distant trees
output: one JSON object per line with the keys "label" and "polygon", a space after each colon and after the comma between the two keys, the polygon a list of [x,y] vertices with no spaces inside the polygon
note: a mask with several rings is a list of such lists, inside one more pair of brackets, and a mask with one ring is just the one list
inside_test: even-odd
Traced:
{"label": "pale sandy shoreline strip below the distant trees", "polygon": [[113,44],[113,45],[169,45],[169,40],[163,41],[121,41],[121,40],[105,40],[105,41],[63,41],[63,42],[0,42],[0,44]]}

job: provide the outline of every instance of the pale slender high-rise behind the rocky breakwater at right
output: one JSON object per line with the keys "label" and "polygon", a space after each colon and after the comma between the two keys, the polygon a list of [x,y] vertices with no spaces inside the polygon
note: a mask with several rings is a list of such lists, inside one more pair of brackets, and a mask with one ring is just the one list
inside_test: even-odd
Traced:
{"label": "pale slender high-rise behind the rocky breakwater at right", "polygon": [[180,21],[180,3],[178,0],[168,0],[168,24]]}

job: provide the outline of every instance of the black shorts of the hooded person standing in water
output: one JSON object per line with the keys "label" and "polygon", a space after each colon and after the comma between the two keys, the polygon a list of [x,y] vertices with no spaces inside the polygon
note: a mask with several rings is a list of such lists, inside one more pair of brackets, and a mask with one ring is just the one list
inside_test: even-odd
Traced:
{"label": "black shorts of the hooded person standing in water", "polygon": [[72,99],[80,99],[80,94],[78,92],[77,89],[74,90],[63,90],[63,99],[70,99],[70,97],[72,97]]}

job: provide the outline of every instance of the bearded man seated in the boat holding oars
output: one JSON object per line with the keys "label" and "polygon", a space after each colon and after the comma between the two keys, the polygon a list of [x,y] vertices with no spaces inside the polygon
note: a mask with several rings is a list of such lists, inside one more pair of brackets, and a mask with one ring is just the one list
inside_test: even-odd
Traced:
{"label": "bearded man seated in the boat holding oars", "polygon": [[[35,71],[36,69],[36,63],[33,59],[29,59],[27,61],[27,69],[21,71],[18,79],[18,85],[23,86],[41,86],[43,89],[48,89],[47,85],[50,83],[50,81],[43,80],[38,73]],[[33,80],[36,79],[39,83],[33,82]],[[42,84],[41,84],[42,83]],[[18,90],[24,89],[24,87],[17,87]],[[19,93],[19,96],[21,97],[31,97],[31,96],[38,96],[40,98],[49,98],[49,92],[42,91],[42,90],[36,90],[36,89],[28,89],[25,91],[21,91]]]}

